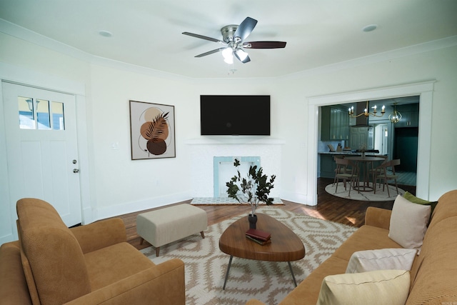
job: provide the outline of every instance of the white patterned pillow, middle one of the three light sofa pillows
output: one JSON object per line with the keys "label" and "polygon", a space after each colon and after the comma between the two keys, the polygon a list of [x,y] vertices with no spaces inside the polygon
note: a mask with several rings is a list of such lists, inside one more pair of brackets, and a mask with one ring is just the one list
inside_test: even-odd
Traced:
{"label": "white patterned pillow, middle one of the three light sofa pillows", "polygon": [[388,269],[409,271],[416,253],[416,249],[401,248],[356,251],[349,259],[346,274]]}

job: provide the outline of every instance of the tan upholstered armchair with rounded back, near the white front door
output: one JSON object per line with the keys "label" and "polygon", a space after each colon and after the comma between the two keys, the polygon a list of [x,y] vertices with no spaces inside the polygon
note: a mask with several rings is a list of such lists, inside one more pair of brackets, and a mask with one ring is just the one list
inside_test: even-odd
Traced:
{"label": "tan upholstered armchair with rounded back, near the white front door", "polygon": [[152,263],[121,219],[69,229],[45,201],[16,209],[19,241],[0,247],[1,304],[186,303],[184,263]]}

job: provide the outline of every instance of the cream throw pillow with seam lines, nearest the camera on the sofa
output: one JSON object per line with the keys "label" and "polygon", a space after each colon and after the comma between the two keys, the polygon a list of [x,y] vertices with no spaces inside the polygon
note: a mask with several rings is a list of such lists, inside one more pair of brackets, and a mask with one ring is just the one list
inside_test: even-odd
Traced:
{"label": "cream throw pillow with seam lines, nearest the camera on the sofa", "polygon": [[411,279],[406,270],[378,270],[326,276],[317,305],[404,305]]}

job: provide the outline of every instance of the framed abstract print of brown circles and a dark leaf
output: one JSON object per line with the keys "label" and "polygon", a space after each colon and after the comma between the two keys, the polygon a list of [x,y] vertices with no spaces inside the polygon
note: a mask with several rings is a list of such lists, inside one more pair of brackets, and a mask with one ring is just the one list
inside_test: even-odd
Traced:
{"label": "framed abstract print of brown circles and a dark leaf", "polygon": [[176,158],[174,106],[129,101],[131,159]]}

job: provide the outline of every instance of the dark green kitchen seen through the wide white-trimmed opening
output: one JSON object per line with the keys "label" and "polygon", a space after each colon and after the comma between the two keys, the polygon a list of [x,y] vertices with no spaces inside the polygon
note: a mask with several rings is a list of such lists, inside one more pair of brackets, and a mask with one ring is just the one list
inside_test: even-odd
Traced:
{"label": "dark green kitchen seen through the wide white-trimmed opening", "polygon": [[[363,104],[365,106],[363,102],[356,104]],[[344,121],[341,119],[341,113],[331,111],[328,118],[328,115],[324,115],[328,111],[322,111],[321,139],[319,139],[318,154],[322,154],[322,148],[326,148],[328,145],[336,147],[336,145],[341,146],[343,144],[343,151],[337,151],[334,154],[356,154],[356,151],[363,148],[369,151],[369,155],[381,154],[387,156],[388,160],[400,159],[401,165],[396,166],[396,172],[398,174],[397,184],[416,186],[419,96],[370,101],[370,108],[374,108],[375,105],[378,107],[385,106],[386,113],[383,115],[368,116],[367,118],[359,116],[358,119],[347,120],[348,111],[346,111],[343,114],[346,116],[346,121]],[[347,110],[353,106],[356,106],[360,110],[360,107],[354,103],[333,104],[331,106],[325,106],[325,109],[331,107],[331,109]],[[320,107],[320,109],[323,110],[323,107]],[[394,109],[400,110],[400,113],[403,113],[403,119],[400,119],[396,123],[393,123],[389,119]],[[333,117],[333,114],[337,114],[336,117]],[[363,120],[359,120],[359,118],[363,118]],[[330,126],[326,126],[326,124]],[[345,129],[349,130],[348,136],[343,132]],[[333,131],[330,137],[324,136],[326,135],[324,131],[328,130]],[[333,178],[336,167],[333,156],[319,156],[318,162],[320,162],[318,166],[320,170],[317,172],[318,176]],[[333,166],[332,164],[326,164],[328,162],[333,163]]]}

